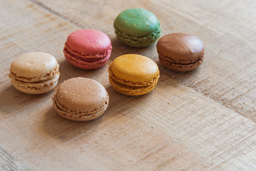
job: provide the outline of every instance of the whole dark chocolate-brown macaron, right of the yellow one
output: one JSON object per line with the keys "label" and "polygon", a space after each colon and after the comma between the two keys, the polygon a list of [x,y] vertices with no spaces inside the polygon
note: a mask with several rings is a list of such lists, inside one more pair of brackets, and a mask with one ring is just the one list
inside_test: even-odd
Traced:
{"label": "whole dark chocolate-brown macaron, right of the yellow one", "polygon": [[160,62],[173,71],[192,71],[203,62],[205,46],[197,36],[169,33],[156,45]]}

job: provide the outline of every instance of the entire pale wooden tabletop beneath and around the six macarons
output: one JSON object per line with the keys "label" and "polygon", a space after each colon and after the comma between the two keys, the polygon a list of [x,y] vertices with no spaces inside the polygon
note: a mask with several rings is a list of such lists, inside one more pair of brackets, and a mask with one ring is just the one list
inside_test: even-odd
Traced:
{"label": "entire pale wooden tabletop beneath and around the six macarons", "polygon": [[[205,42],[196,71],[163,68],[155,44],[123,46],[113,20],[124,9],[144,8],[163,34],[186,32]],[[254,0],[0,0],[0,170],[256,170],[256,1]],[[65,61],[69,33],[105,32],[113,53],[103,68],[84,71]],[[93,78],[110,95],[108,110],[73,122],[53,110],[51,97],[11,86],[9,66],[30,51],[51,53],[59,83]],[[125,53],[152,58],[160,80],[152,93],[128,97],[108,82],[108,66]]]}

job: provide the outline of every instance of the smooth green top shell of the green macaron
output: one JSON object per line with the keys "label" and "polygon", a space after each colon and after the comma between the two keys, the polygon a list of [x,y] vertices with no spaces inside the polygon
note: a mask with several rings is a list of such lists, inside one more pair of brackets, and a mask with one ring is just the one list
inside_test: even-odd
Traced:
{"label": "smooth green top shell of the green macaron", "polygon": [[126,9],[118,14],[114,21],[118,31],[133,36],[145,36],[160,27],[156,16],[145,9]]}

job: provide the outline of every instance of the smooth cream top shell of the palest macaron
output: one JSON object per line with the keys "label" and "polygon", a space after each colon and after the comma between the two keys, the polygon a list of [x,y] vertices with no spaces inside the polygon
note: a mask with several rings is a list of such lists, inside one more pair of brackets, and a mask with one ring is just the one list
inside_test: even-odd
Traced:
{"label": "smooth cream top shell of the palest macaron", "polygon": [[31,52],[18,56],[11,63],[10,71],[16,76],[32,78],[51,73],[57,66],[56,58],[50,54]]}

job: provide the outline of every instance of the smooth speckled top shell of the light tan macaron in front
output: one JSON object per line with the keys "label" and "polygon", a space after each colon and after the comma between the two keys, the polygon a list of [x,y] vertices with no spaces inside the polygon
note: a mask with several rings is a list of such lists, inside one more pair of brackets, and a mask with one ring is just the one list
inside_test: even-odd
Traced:
{"label": "smooth speckled top shell of the light tan macaron in front", "polygon": [[101,107],[108,98],[106,89],[90,78],[71,78],[58,87],[56,100],[68,110],[88,111]]}

